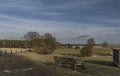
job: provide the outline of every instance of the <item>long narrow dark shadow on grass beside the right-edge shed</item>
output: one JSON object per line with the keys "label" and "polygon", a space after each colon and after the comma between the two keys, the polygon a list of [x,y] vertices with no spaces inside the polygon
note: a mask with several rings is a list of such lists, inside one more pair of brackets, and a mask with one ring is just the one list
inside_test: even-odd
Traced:
{"label": "long narrow dark shadow on grass beside the right-edge shed", "polygon": [[86,63],[98,64],[103,66],[114,67],[113,62],[110,61],[101,61],[101,60],[85,60]]}

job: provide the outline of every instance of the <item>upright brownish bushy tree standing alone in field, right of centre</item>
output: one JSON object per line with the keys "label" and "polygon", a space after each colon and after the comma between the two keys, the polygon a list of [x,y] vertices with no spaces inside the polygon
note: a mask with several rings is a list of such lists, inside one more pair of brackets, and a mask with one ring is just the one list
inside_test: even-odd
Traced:
{"label": "upright brownish bushy tree standing alone in field, right of centre", "polygon": [[94,47],[94,44],[95,44],[94,38],[88,39],[86,46],[84,46],[81,49],[81,56],[87,56],[87,57],[92,56],[93,54],[92,49]]}

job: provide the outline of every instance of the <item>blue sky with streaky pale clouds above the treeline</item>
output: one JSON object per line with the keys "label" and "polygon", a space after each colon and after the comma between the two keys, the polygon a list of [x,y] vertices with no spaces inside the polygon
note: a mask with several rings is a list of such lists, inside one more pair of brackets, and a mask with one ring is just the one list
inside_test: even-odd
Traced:
{"label": "blue sky with streaky pale clouds above the treeline", "polygon": [[29,31],[51,33],[64,42],[93,37],[120,43],[120,0],[0,0],[0,38]]}

